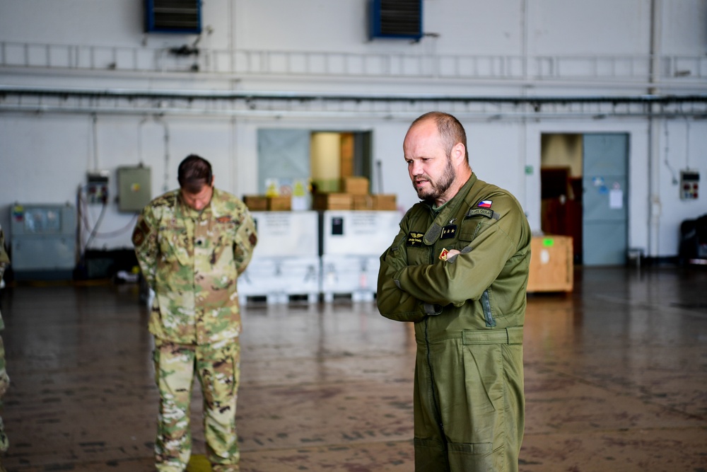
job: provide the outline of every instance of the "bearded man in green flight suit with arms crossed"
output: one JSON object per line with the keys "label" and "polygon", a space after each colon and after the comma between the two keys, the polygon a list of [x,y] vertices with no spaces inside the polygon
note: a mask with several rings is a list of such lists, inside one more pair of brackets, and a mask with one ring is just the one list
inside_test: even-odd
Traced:
{"label": "bearded man in green flight suit with arms crossed", "polygon": [[472,173],[460,122],[431,112],[403,151],[423,200],[380,256],[378,310],[414,322],[417,472],[518,471],[530,226]]}

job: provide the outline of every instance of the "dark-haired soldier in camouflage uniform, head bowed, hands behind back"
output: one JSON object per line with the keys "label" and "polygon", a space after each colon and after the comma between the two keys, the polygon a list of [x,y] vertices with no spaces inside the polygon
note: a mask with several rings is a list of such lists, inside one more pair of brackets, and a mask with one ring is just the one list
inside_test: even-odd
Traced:
{"label": "dark-haired soldier in camouflage uniform, head bowed, hands behind back", "polygon": [[190,155],[180,189],[140,214],[132,241],[156,297],[149,330],[160,391],[158,471],[184,471],[191,454],[189,403],[196,374],[204,396],[204,435],[214,472],[238,471],[235,407],[240,375],[236,279],[257,243],[245,204],[214,188],[211,165]]}

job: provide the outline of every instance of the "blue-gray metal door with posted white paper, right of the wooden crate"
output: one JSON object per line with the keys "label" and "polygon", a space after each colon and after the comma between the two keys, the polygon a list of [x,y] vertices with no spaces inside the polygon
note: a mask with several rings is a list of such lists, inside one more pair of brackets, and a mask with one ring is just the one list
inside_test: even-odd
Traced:
{"label": "blue-gray metal door with posted white paper, right of the wooden crate", "polygon": [[628,134],[583,137],[583,263],[626,263]]}

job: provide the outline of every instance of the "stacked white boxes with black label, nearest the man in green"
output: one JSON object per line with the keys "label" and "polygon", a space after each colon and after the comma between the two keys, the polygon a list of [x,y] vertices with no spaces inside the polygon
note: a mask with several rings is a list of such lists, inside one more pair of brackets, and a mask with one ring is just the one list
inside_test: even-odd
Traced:
{"label": "stacked white boxes with black label, nearest the man in green", "polygon": [[395,211],[337,211],[320,213],[322,295],[325,301],[350,297],[373,300],[378,258],[399,230]]}

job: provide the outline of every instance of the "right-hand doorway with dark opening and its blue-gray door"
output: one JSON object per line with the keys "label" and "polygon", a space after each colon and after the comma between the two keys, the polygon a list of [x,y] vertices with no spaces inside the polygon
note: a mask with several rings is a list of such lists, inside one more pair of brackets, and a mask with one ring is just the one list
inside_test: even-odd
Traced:
{"label": "right-hand doorway with dark opening and its blue-gray door", "polygon": [[571,236],[575,264],[626,263],[628,144],[625,133],[541,136],[542,231]]}

